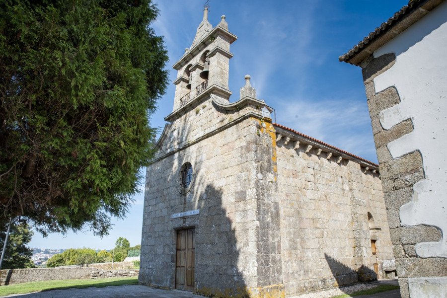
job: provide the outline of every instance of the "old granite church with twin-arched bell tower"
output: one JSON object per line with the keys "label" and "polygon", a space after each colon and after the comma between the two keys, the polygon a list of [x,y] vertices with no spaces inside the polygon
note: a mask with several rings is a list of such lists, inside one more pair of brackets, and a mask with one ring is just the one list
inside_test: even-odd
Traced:
{"label": "old granite church with twin-arched bell tower", "polygon": [[230,102],[236,39],[205,8],[173,66],[174,108],[147,168],[139,282],[288,297],[394,277],[378,165],[272,123],[249,75]]}

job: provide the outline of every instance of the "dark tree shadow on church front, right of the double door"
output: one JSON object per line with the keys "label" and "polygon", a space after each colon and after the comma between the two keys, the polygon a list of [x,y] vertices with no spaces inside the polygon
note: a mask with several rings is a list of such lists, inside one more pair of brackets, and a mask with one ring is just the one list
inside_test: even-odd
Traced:
{"label": "dark tree shadow on church front, right of the double door", "polygon": [[239,271],[235,218],[227,214],[222,189],[211,184],[200,193],[201,212],[196,226],[196,293],[207,297],[249,298]]}

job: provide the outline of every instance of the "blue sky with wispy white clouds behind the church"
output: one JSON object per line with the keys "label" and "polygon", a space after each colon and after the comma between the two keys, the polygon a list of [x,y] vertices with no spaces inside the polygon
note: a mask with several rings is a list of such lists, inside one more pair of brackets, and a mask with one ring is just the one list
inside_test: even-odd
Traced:
{"label": "blue sky with wispy white clouds behind the church", "polygon": [[[153,24],[163,35],[172,65],[190,47],[203,17],[205,0],[156,1],[160,16]],[[303,134],[377,162],[365,86],[359,67],[341,63],[346,53],[375,27],[406,5],[405,0],[211,0],[208,20],[216,26],[226,16],[238,39],[230,46],[230,101],[239,99],[244,75],[251,75],[258,99],[276,110],[276,122]],[[171,83],[158,102],[151,125],[164,127],[173,108]],[[143,187],[142,187],[143,189]],[[91,247],[110,249],[120,236],[140,244],[143,193],[124,220],[113,220],[108,236],[91,232],[36,233],[29,243],[37,248]]]}

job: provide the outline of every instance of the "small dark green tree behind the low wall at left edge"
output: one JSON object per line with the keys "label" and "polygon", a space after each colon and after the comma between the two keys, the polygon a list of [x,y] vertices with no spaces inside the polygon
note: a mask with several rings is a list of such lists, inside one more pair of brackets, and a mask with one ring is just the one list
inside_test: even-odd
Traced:
{"label": "small dark green tree behind the low wall at left edge", "polygon": [[[27,224],[18,223],[11,226],[1,269],[35,267],[31,260],[33,250],[26,246],[33,235],[34,232],[29,229]],[[0,233],[1,249],[3,249],[5,236],[6,232]]]}

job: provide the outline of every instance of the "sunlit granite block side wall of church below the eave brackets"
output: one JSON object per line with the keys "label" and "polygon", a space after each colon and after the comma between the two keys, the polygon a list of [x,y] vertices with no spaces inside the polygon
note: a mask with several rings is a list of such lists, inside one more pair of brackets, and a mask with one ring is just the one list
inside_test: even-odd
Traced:
{"label": "sunlit granite block side wall of church below the eave brackets", "polygon": [[[373,280],[371,239],[378,278],[394,258],[378,173],[352,160],[289,142],[278,144],[281,247],[286,293],[316,291]],[[370,230],[368,212],[373,215]],[[386,267],[387,266],[387,267]]]}

